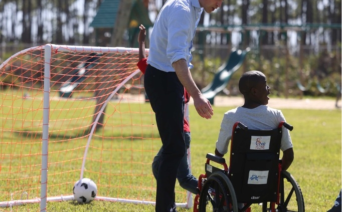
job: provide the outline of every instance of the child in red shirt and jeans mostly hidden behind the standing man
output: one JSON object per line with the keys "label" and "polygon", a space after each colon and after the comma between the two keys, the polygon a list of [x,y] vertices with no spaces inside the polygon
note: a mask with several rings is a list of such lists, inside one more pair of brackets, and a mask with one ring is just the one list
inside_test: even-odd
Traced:
{"label": "child in red shirt and jeans mostly hidden behind the standing man", "polygon": [[[136,64],[139,68],[139,70],[145,74],[145,70],[147,67],[147,57],[146,57],[146,51],[145,51],[145,38],[146,38],[146,29],[143,25],[139,26],[140,32],[138,35],[138,43],[139,43],[139,62]],[[185,104],[190,100],[190,94],[187,92],[187,90],[184,89],[184,101]],[[191,133],[190,133],[190,125],[189,121],[186,117],[184,117],[184,139],[187,148],[190,147],[190,141],[191,141]],[[158,151],[158,153],[155,155],[153,162],[152,162],[152,172],[155,178],[157,178],[158,169],[159,169],[159,163],[161,159],[161,152],[162,147]],[[177,179],[180,183],[181,187],[184,189],[197,194],[198,193],[198,179],[192,175],[191,169],[189,166],[188,161],[188,152],[186,151],[185,155],[183,156],[181,163],[178,167],[177,171]]]}

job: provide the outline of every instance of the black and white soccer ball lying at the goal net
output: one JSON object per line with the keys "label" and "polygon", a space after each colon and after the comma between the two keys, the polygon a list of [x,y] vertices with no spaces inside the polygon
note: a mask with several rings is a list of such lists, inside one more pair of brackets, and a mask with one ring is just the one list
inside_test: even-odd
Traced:
{"label": "black and white soccer ball lying at the goal net", "polygon": [[96,197],[97,186],[93,180],[83,178],[75,182],[72,191],[76,201],[80,203],[89,203]]}

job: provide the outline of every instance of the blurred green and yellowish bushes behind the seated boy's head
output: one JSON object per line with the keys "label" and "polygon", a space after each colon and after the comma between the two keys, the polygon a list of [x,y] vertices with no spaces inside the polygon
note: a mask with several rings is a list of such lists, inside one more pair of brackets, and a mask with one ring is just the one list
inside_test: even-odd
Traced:
{"label": "blurred green and yellowish bushes behind the seated boy's head", "polygon": [[[336,86],[341,82],[338,53],[309,54],[300,60],[297,55],[291,55],[287,51],[285,47],[278,46],[275,50],[249,52],[243,66],[232,76],[227,85],[230,94],[240,95],[237,89],[242,73],[259,70],[266,75],[271,93],[278,97],[336,96],[338,93]],[[217,69],[225,62],[218,57],[202,58],[194,54],[195,67],[192,75],[199,88],[208,85]],[[301,91],[297,81],[308,90]]]}

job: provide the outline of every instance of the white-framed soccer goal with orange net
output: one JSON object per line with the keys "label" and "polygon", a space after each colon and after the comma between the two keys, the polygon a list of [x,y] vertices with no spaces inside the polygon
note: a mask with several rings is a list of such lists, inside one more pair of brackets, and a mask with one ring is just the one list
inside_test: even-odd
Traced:
{"label": "white-framed soccer goal with orange net", "polygon": [[[47,44],[0,65],[0,206],[46,211],[85,177],[95,200],[155,203],[161,142],[137,62],[134,48]],[[178,183],[176,200],[192,207]]]}

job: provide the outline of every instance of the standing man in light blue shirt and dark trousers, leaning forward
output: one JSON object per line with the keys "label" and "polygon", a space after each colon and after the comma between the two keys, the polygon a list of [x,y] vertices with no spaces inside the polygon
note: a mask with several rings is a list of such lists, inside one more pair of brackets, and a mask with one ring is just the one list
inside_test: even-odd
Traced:
{"label": "standing man in light blue shirt and dark trousers, leaning forward", "polygon": [[144,87],[162,142],[157,175],[156,212],[177,211],[175,184],[184,141],[184,87],[198,114],[211,118],[213,109],[196,86],[190,69],[193,39],[201,14],[221,7],[223,0],[168,0],[160,10],[150,37]]}

